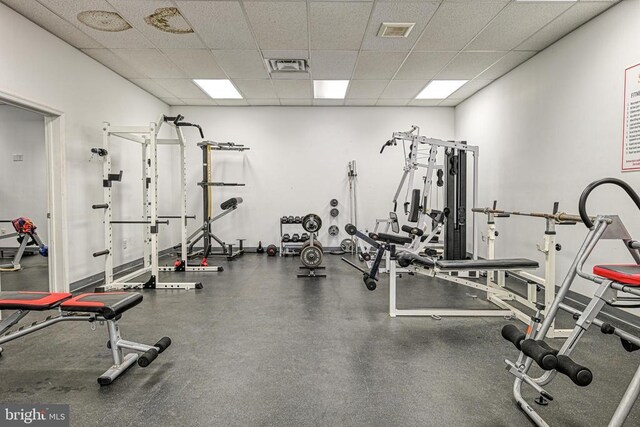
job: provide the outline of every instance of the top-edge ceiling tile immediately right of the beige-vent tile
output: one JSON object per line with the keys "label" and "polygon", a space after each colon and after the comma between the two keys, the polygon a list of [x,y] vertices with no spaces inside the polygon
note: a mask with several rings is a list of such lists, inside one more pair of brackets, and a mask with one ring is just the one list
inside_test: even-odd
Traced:
{"label": "top-edge ceiling tile immediately right of the beige-vent tile", "polygon": [[414,50],[461,50],[507,2],[449,2],[435,13]]}

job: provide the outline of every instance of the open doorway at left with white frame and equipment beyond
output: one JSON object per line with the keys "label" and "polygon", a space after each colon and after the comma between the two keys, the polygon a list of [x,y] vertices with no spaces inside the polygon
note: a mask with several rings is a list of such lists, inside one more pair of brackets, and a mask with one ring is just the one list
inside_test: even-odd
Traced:
{"label": "open doorway at left with white frame and equipment beyond", "polygon": [[0,92],[2,290],[69,291],[63,132],[61,111]]}

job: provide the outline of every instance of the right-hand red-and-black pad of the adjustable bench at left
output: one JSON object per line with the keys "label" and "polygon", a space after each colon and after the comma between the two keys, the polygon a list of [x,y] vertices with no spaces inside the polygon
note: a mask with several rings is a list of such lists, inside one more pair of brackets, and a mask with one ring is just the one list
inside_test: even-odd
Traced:
{"label": "right-hand red-and-black pad of the adjustable bench at left", "polygon": [[142,302],[142,294],[131,292],[103,292],[81,294],[64,301],[65,311],[97,313],[105,319],[113,319]]}

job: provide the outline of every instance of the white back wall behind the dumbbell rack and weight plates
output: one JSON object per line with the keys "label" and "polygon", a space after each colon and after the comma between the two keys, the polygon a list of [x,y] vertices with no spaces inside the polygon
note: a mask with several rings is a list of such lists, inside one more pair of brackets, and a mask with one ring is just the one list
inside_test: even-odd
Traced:
{"label": "white back wall behind the dumbbell rack and weight plates", "polygon": [[[347,163],[357,161],[359,225],[373,227],[391,210],[402,175],[402,147],[380,147],[392,132],[419,125],[423,135],[452,139],[453,108],[367,107],[172,107],[186,121],[200,124],[205,137],[249,146],[244,153],[213,153],[214,180],[245,183],[245,187],[215,187],[214,203],[244,199],[241,207],[214,224],[227,242],[246,238],[247,246],[278,244],[279,218],[314,212],[322,216],[322,243],[338,246],[347,237]],[[188,132],[189,213],[202,221],[201,151],[196,131]],[[169,149],[167,147],[167,149]],[[404,197],[404,195],[403,195]],[[341,213],[330,220],[329,201],[338,199]],[[404,200],[404,199],[403,199]],[[330,224],[340,227],[329,237]],[[194,224],[190,230],[195,230]],[[302,229],[289,229],[290,234]]]}

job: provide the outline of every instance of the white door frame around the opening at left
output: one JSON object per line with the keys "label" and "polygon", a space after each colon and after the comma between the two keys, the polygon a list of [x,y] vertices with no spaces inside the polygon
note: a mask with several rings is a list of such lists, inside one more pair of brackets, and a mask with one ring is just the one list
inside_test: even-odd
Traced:
{"label": "white door frame around the opening at left", "polygon": [[47,157],[49,291],[69,292],[64,112],[4,91],[0,91],[0,101],[44,116]]}

